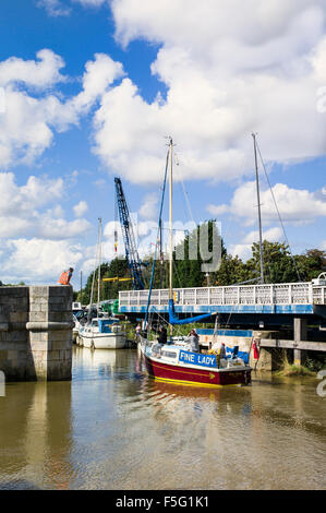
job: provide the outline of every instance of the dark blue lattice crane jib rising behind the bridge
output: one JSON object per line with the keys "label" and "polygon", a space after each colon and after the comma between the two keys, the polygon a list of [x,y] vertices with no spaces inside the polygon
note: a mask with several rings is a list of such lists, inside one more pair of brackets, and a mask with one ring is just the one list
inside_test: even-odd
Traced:
{"label": "dark blue lattice crane jib rising behind the bridge", "polygon": [[[142,263],[140,260],[137,247],[135,243],[135,237],[133,231],[132,222],[130,218],[130,213],[125,196],[122,189],[122,183],[120,178],[114,178],[116,184],[116,194],[117,194],[117,206],[119,210],[120,224],[122,229],[122,236],[125,248],[125,260],[130,271],[132,285],[134,290],[143,290],[145,288]],[[118,232],[114,232],[114,249],[117,251]]]}

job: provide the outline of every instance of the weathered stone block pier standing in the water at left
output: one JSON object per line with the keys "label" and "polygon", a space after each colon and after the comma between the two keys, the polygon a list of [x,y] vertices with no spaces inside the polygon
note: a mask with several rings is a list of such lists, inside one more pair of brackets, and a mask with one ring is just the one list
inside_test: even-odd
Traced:
{"label": "weathered stone block pier standing in the water at left", "polygon": [[0,287],[0,370],[5,380],[70,380],[72,326],[72,287]]}

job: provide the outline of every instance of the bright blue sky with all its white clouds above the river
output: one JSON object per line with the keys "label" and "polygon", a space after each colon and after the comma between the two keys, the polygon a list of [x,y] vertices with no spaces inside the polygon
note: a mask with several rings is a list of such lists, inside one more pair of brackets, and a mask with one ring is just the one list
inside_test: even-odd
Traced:
{"label": "bright blue sky with all its white clouds above the river", "polygon": [[[73,265],[79,288],[98,217],[112,258],[114,176],[148,251],[167,135],[180,226],[217,218],[250,256],[255,131],[292,251],[326,249],[326,7],[250,3],[2,0],[0,279],[55,283]],[[264,234],[282,241],[262,166],[261,180]]]}

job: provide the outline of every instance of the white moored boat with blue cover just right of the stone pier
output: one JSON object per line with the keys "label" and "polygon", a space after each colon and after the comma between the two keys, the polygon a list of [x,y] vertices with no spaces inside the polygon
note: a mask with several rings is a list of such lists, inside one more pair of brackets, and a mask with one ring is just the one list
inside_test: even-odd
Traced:
{"label": "white moored boat with blue cover just right of the stone pier", "polygon": [[92,349],[122,349],[126,336],[116,319],[95,318],[80,329],[77,344]]}

